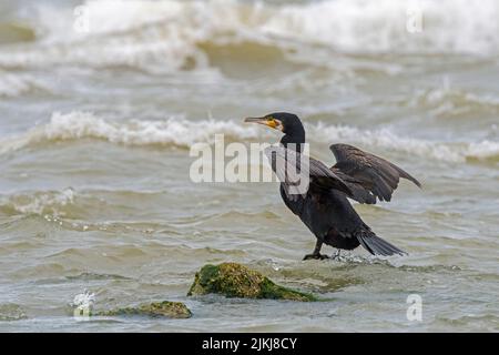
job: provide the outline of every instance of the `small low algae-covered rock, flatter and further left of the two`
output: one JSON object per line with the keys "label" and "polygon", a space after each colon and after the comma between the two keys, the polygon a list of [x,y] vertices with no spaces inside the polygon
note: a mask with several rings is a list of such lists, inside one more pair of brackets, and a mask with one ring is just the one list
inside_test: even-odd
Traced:
{"label": "small low algae-covered rock, flatter and further left of the two", "polygon": [[187,306],[181,302],[153,302],[141,304],[136,307],[124,307],[111,311],[101,311],[99,316],[132,316],[142,315],[150,317],[190,318],[192,316]]}

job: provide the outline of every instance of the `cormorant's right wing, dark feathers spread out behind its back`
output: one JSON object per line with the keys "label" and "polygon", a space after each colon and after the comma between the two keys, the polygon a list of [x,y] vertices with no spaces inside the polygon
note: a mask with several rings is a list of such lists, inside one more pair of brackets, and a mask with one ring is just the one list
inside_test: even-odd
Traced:
{"label": "cormorant's right wing, dark feathers spread out behind its back", "polygon": [[383,158],[348,144],[333,144],[329,149],[336,158],[330,170],[343,179],[353,197],[360,203],[374,204],[376,199],[390,201],[400,178],[421,187],[419,181]]}

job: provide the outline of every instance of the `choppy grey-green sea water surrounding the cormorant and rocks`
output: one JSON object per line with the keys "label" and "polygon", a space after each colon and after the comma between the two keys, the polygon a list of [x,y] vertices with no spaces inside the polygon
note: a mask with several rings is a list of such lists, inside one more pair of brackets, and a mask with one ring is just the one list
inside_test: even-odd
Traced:
{"label": "choppy grey-green sea water surrounding the cormorant and rocks", "polygon": [[[3,0],[0,331],[498,331],[498,18],[495,0]],[[409,256],[302,262],[314,237],[276,184],[189,180],[191,144],[275,142],[242,119],[276,110],[328,164],[345,142],[422,182],[355,205]],[[223,261],[330,301],[185,297]],[[194,317],[77,322],[83,290]]]}

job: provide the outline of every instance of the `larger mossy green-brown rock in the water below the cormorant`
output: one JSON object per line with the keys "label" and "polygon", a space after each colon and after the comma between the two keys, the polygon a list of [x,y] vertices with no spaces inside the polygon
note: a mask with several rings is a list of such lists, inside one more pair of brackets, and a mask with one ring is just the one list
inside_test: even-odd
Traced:
{"label": "larger mossy green-brown rock in the water below the cormorant", "polygon": [[310,294],[276,285],[261,273],[236,263],[205,265],[196,273],[187,296],[208,293],[241,298],[317,301]]}

